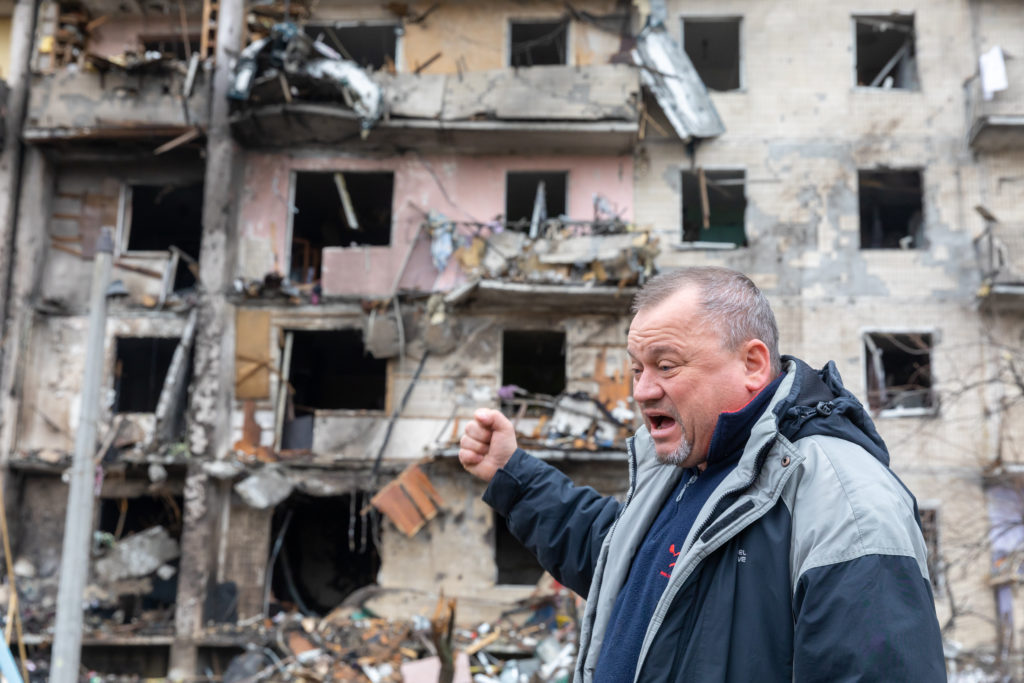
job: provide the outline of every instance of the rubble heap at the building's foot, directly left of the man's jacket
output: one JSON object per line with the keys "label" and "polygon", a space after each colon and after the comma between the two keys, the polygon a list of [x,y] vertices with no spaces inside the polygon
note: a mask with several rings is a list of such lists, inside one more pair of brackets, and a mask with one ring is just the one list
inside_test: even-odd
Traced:
{"label": "rubble heap at the building's foot, directly left of the man's jacket", "polygon": [[[580,598],[550,577],[496,624],[455,626],[455,600],[438,600],[432,616],[387,620],[342,606],[323,618],[281,612],[272,618],[217,626],[208,637],[248,641],[223,683],[371,681],[525,683],[567,681],[578,638]],[[451,678],[439,678],[442,672]]]}

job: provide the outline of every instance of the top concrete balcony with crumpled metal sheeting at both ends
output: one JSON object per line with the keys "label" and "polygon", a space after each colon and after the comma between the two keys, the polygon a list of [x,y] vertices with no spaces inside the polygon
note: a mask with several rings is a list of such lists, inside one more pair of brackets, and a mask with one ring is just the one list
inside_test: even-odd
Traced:
{"label": "top concrete balcony with crumpled metal sheeting at both ends", "polygon": [[720,134],[707,90],[675,42],[664,30],[645,31],[638,41],[640,69],[545,60],[528,69],[421,75],[370,72],[342,57],[331,31],[282,24],[242,52],[229,93],[232,129],[255,146],[362,138],[510,152],[495,133],[517,132],[549,152],[624,151],[640,130],[642,77],[682,139]]}

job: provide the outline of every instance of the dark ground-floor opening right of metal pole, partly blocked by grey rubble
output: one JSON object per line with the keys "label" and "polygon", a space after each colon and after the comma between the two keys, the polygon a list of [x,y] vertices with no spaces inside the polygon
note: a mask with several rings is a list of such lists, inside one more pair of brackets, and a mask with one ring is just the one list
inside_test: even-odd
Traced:
{"label": "dark ground-floor opening right of metal pole, partly blocked by grey rubble", "polygon": [[[117,543],[154,526],[162,526],[167,530],[167,536],[180,543],[183,505],[184,499],[181,496],[170,494],[104,498],[99,504],[98,530],[102,538]],[[173,572],[155,571],[147,578],[152,586],[150,591],[121,594],[112,616],[119,616],[122,624],[173,622],[178,591],[178,560],[169,560],[167,565]]]}

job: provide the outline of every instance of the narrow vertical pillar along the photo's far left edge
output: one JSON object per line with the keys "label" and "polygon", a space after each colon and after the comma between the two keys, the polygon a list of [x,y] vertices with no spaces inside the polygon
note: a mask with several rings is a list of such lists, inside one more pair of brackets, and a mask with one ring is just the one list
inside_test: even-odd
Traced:
{"label": "narrow vertical pillar along the photo's far left edge", "polygon": [[[6,375],[13,372],[12,368],[8,368],[9,349],[18,343],[14,335],[8,334],[11,324],[8,317],[11,315],[17,198],[22,194],[22,128],[29,102],[29,70],[37,13],[38,0],[18,0],[14,5],[10,27],[10,74],[7,78],[10,90],[7,93],[7,116],[4,119],[3,151],[0,152],[0,339],[4,340],[0,345],[0,369]],[[7,379],[4,377],[4,382]],[[7,422],[13,419],[5,407],[0,413],[0,420]],[[3,425],[4,428],[8,426]],[[0,462],[6,464],[7,458],[7,453],[0,453]]]}

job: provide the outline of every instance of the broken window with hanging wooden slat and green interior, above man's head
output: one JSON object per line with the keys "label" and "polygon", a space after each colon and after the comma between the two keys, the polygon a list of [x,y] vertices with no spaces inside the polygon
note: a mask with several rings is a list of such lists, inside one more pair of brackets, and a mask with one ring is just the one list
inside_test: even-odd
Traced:
{"label": "broken window with hanging wooden slat and green interior, above man's head", "polygon": [[683,242],[746,246],[746,174],[683,171]]}

